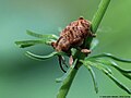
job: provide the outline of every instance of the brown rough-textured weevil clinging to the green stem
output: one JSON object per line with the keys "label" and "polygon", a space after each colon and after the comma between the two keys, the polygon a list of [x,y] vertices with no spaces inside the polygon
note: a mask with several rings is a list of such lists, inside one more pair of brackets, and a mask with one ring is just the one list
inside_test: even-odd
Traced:
{"label": "brown rough-textured weevil clinging to the green stem", "polygon": [[[82,49],[81,47],[84,42],[84,39],[90,36],[92,37],[94,36],[91,32],[91,22],[87,20],[84,20],[83,17],[79,17],[76,21],[71,22],[60,33],[59,39],[56,42],[52,42],[51,45],[57,51],[68,52],[70,51],[71,48],[79,47],[81,48],[81,52],[90,53],[91,50]],[[70,59],[70,60],[73,60],[73,59]],[[72,64],[73,61],[69,61],[69,62],[70,64]]]}

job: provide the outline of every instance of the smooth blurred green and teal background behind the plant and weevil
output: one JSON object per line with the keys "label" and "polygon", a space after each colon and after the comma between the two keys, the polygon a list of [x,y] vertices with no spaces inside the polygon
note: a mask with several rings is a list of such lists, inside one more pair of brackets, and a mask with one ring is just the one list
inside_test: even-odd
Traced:
{"label": "smooth blurred green and teal background behind the plant and weevil", "polygon": [[[0,98],[55,98],[63,73],[57,58],[36,61],[24,56],[26,50],[48,54],[51,47],[38,45],[20,49],[15,40],[32,39],[26,29],[57,34],[79,16],[92,20],[100,0],[0,0]],[[131,0],[111,0],[99,26],[98,47],[94,53],[111,52],[131,58]],[[124,69],[131,64],[119,63]],[[115,71],[115,70],[114,70]],[[68,98],[99,98],[104,95],[128,94],[106,75],[95,70],[99,93],[95,94],[88,71],[81,68]],[[131,82],[115,71],[115,75],[131,88]]]}

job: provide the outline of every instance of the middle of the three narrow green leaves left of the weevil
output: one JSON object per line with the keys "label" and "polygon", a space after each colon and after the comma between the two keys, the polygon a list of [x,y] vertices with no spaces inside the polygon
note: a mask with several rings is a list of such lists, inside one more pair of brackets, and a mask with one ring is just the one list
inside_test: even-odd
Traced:
{"label": "middle of the three narrow green leaves left of the weevil", "polygon": [[35,46],[39,44],[50,45],[51,41],[49,40],[23,40],[23,41],[15,41],[15,44],[20,46],[20,48],[26,48],[26,47],[31,47],[31,46]]}

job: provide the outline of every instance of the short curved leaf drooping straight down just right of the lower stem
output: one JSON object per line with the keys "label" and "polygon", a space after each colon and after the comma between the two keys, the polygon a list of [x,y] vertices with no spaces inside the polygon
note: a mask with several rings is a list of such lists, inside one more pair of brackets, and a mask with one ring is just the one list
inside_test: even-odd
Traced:
{"label": "short curved leaf drooping straight down just right of the lower stem", "polygon": [[84,66],[90,71],[90,73],[91,73],[91,75],[92,75],[93,83],[94,83],[94,88],[95,88],[95,91],[96,91],[96,94],[97,94],[97,93],[98,93],[98,86],[97,86],[95,73],[94,73],[93,69],[92,69],[90,65],[84,64]]}

